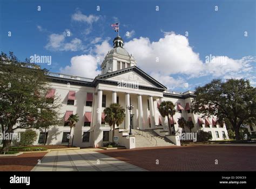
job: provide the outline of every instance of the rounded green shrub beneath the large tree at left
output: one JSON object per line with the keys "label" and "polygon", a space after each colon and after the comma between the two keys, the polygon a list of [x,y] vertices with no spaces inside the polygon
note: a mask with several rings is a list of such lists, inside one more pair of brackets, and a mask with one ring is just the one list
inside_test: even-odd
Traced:
{"label": "rounded green shrub beneath the large tree at left", "polygon": [[21,132],[21,140],[15,140],[13,142],[14,146],[27,146],[32,145],[37,139],[37,133],[33,130],[26,130],[25,132]]}

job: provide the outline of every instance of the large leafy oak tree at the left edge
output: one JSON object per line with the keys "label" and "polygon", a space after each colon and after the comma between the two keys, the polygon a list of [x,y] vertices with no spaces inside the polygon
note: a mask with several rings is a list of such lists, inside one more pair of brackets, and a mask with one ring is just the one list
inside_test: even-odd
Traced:
{"label": "large leafy oak tree at the left edge", "polygon": [[[39,129],[43,122],[57,123],[60,107],[58,97],[46,103],[50,87],[47,70],[38,65],[20,62],[12,52],[0,55],[0,124],[2,132],[17,129]],[[48,113],[46,113],[48,112]],[[50,118],[49,118],[50,117]],[[3,140],[2,153],[8,152],[11,139]]]}

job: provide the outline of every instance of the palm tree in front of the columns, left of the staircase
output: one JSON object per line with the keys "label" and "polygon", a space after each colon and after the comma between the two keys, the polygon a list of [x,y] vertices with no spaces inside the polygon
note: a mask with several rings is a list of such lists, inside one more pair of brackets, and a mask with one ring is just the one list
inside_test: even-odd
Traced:
{"label": "palm tree in front of the columns, left of the staircase", "polygon": [[112,103],[109,107],[106,107],[104,114],[105,122],[108,123],[109,126],[113,125],[112,141],[114,142],[114,127],[123,123],[125,118],[125,109],[119,104]]}

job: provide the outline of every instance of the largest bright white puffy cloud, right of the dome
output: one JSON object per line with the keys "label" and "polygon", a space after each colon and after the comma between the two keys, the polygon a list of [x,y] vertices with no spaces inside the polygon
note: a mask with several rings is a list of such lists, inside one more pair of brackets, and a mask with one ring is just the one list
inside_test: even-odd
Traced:
{"label": "largest bright white puffy cloud, right of the dome", "polygon": [[189,45],[188,39],[175,33],[165,35],[157,42],[150,42],[145,37],[134,38],[124,47],[149,73],[158,70],[164,75],[184,73],[198,76],[203,71],[203,62]]}

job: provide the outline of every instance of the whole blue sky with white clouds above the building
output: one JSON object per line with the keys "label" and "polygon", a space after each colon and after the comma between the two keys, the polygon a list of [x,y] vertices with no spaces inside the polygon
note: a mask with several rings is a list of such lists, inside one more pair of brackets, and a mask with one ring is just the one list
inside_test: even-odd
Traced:
{"label": "whole blue sky with white clouds above the building", "polygon": [[[4,0],[0,49],[13,51],[21,60],[51,56],[51,65],[40,64],[42,68],[93,77],[99,73],[95,58],[104,58],[116,36],[110,24],[118,21],[125,48],[137,65],[170,90],[194,90],[213,78],[248,78],[255,86],[255,9],[255,1],[249,0]],[[207,64],[210,55],[220,58]]]}

